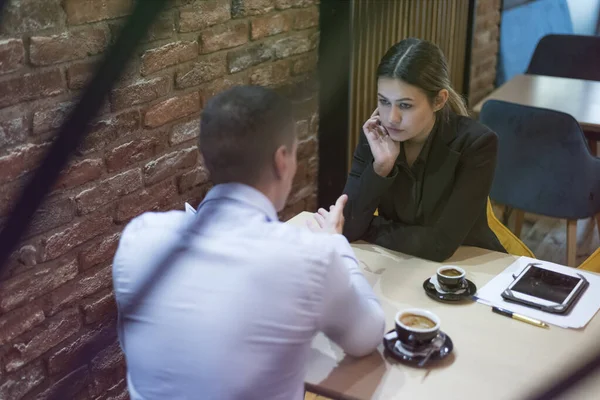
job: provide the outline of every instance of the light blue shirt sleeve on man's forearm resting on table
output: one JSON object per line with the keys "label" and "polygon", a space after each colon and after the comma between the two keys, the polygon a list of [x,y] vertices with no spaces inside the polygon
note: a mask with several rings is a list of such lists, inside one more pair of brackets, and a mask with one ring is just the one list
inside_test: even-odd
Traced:
{"label": "light blue shirt sleeve on man's forearm resting on table", "polygon": [[373,352],[383,338],[385,315],[346,238],[333,237],[319,328],[351,356]]}

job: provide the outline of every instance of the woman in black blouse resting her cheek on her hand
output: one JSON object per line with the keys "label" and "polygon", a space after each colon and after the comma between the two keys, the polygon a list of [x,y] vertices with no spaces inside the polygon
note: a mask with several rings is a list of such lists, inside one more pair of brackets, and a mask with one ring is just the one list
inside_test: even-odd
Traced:
{"label": "woman in black blouse resting her cheek on her hand", "polygon": [[377,78],[344,189],[344,235],[434,261],[461,245],[505,252],[486,215],[497,137],[467,116],[442,51],[402,40]]}

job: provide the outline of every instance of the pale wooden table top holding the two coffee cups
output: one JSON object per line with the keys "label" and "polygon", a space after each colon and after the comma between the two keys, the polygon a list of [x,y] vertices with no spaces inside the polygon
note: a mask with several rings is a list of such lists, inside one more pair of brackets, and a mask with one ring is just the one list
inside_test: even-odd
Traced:
{"label": "pale wooden table top holding the two coffee cups", "polygon": [[[304,225],[310,217],[304,212],[289,223]],[[422,288],[439,263],[367,243],[352,247],[381,300],[386,331],[394,328],[397,311],[426,308],[441,318],[454,350],[430,369],[418,369],[388,360],[383,345],[364,358],[346,356],[319,334],[307,367],[306,384],[312,392],[343,399],[522,399],[600,351],[597,315],[582,330],[542,329],[492,313],[490,307],[475,302],[439,303]],[[463,267],[467,278],[483,287],[516,258],[463,247],[444,264]],[[600,373],[587,382],[565,398],[598,399]]]}

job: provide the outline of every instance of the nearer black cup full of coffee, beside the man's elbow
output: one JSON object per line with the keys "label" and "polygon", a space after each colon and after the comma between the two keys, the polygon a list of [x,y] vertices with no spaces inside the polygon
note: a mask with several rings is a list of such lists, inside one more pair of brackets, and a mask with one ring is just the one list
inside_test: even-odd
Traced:
{"label": "nearer black cup full of coffee, beside the man's elbow", "polygon": [[440,331],[440,318],[420,308],[409,308],[396,314],[398,340],[409,348],[418,348],[431,343]]}

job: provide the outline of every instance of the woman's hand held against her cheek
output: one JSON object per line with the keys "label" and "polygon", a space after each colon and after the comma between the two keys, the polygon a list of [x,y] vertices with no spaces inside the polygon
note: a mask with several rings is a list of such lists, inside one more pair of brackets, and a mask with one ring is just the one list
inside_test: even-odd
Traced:
{"label": "woman's hand held against her cheek", "polygon": [[388,176],[400,154],[400,142],[392,140],[385,127],[381,125],[377,109],[363,125],[363,132],[369,141],[369,147],[375,159],[373,161],[375,173],[383,177]]}

